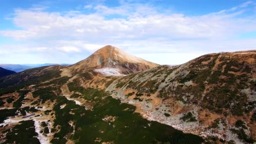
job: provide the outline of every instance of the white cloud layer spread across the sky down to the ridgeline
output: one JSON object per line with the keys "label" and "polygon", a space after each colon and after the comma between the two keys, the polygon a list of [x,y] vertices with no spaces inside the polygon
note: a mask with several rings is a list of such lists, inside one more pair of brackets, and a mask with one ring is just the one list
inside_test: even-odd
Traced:
{"label": "white cloud layer spread across the sky down to the ridgeline", "polygon": [[[1,45],[0,55],[22,53],[33,58],[54,54],[52,62],[74,63],[112,44],[160,64],[181,64],[205,53],[256,49],[256,39],[236,38],[256,31],[250,5],[254,3],[200,16],[123,1],[117,7],[85,5],[80,11],[15,9],[11,20],[19,29],[2,30],[0,35],[16,40],[19,46]],[[245,14],[248,11],[251,14]],[[44,60],[38,62],[50,62]]]}

